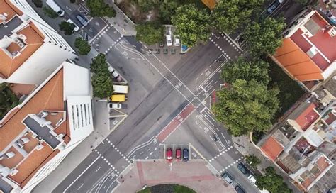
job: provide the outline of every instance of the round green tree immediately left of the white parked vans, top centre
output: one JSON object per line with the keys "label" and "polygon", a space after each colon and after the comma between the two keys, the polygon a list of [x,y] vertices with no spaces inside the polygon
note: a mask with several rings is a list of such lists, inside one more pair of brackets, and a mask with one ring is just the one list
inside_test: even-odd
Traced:
{"label": "round green tree immediately left of the white parked vans, top centre", "polygon": [[157,22],[147,21],[135,27],[137,31],[136,39],[152,45],[164,39],[164,27]]}

